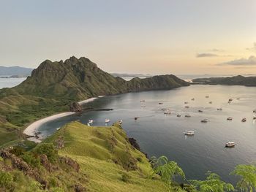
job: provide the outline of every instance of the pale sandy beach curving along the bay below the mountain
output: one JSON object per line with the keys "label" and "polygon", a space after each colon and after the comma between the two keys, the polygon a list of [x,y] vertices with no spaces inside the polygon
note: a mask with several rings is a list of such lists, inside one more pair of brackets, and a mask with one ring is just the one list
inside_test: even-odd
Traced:
{"label": "pale sandy beach curving along the bay below the mountain", "polygon": [[[88,102],[94,101],[95,99],[101,98],[102,96],[98,96],[98,97],[93,97],[90,99],[86,99],[83,101],[79,101],[78,104],[86,104]],[[59,114],[56,115],[51,115],[47,118],[42,118],[40,120],[35,121],[34,123],[31,123],[29,126],[27,126],[24,131],[23,134],[29,135],[29,136],[35,136],[35,132],[37,132],[37,129],[39,128],[39,126],[42,126],[42,124],[47,123],[50,120],[56,120],[59,118],[63,118],[69,115],[73,115],[75,114],[75,112],[61,112]],[[30,141],[33,142],[41,142],[41,139],[37,139],[35,137],[29,137]]]}

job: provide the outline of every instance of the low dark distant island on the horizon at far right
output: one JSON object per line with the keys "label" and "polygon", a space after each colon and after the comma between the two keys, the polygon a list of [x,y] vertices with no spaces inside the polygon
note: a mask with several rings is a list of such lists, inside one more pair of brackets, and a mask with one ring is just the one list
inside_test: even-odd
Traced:
{"label": "low dark distant island on the horizon at far right", "polygon": [[242,75],[233,77],[211,77],[192,80],[194,83],[206,85],[244,85],[256,86],[256,77],[244,77]]}

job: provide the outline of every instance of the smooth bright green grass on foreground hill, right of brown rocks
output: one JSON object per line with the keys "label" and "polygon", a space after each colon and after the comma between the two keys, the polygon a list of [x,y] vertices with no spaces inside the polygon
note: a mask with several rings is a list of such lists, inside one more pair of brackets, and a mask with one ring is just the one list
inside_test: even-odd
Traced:
{"label": "smooth bright green grass on foreground hill, right of brown rocks", "polygon": [[[80,172],[89,177],[89,191],[168,191],[161,180],[151,179],[148,159],[127,142],[126,133],[118,126],[94,127],[76,121],[44,142],[58,138],[64,139],[59,155],[78,161]],[[129,175],[127,182],[122,180],[124,174]]]}

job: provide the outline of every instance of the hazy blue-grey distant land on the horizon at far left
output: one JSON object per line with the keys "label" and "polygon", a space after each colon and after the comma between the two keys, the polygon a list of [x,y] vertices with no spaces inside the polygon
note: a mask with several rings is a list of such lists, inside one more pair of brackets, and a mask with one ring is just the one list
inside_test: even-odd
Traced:
{"label": "hazy blue-grey distant land on the horizon at far left", "polygon": [[26,77],[31,75],[33,69],[21,66],[0,66],[0,75],[12,77]]}

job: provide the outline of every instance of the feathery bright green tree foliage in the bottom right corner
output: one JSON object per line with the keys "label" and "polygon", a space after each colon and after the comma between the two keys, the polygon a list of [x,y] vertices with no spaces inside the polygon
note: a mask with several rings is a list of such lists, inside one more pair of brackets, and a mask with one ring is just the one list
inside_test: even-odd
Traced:
{"label": "feathery bright green tree foliage in the bottom right corner", "polygon": [[241,191],[254,191],[256,190],[256,166],[255,164],[251,165],[238,165],[235,170],[230,174],[237,175],[241,179],[236,184],[236,188]]}

